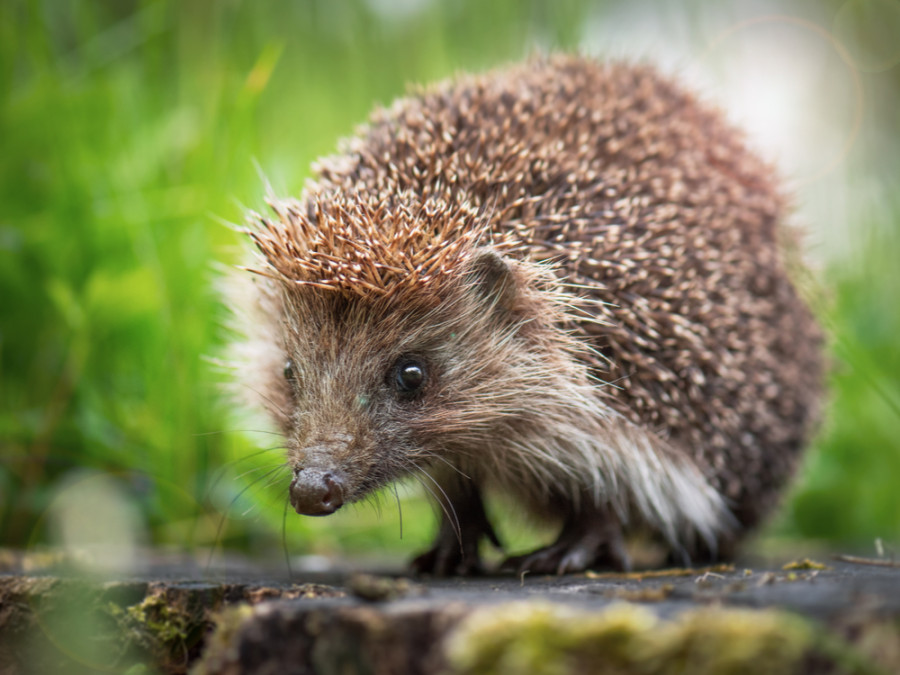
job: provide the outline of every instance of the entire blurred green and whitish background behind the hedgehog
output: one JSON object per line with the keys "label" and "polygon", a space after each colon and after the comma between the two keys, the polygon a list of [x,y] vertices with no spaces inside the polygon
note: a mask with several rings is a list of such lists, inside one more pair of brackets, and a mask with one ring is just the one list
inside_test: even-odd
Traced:
{"label": "entire blurred green and whitish background behind the hedgehog", "polygon": [[0,544],[424,547],[412,487],[402,526],[392,492],[285,518],[277,439],[220,393],[228,223],[408,84],[552,50],[656,63],[780,166],[832,367],[761,542],[900,541],[900,1],[3,0]]}

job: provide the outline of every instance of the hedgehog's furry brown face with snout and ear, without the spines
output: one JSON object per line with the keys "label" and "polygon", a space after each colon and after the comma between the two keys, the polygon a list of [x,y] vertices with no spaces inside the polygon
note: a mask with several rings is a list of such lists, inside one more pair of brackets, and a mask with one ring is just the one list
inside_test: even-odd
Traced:
{"label": "hedgehog's furry brown face with snout and ear, without the spines", "polygon": [[298,512],[331,513],[438,457],[465,464],[546,404],[523,396],[559,370],[541,348],[558,332],[535,301],[546,270],[478,248],[453,275],[426,302],[281,285],[283,359],[270,359],[265,390]]}

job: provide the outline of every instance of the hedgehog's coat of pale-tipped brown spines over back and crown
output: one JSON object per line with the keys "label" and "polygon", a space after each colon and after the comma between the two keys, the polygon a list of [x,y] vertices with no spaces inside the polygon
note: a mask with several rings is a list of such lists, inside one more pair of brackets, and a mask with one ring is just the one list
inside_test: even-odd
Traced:
{"label": "hedgehog's coat of pale-tipped brown spines over back and crown", "polygon": [[[368,205],[359,206],[366,200]],[[641,490],[659,489],[673,503],[645,510],[680,509],[670,539],[681,536],[676,521],[695,518],[692,506],[675,502],[698,490],[710,495],[697,507],[709,510],[709,519],[720,518],[724,504],[742,526],[754,525],[771,509],[808,440],[821,388],[821,340],[778,250],[786,236],[780,231],[784,206],[772,171],[715,111],[652,70],[556,58],[439,85],[377,113],[341,156],[319,165],[316,183],[301,202],[277,208],[280,224],[267,223],[254,238],[271,283],[286,281],[291,288],[273,301],[282,318],[269,317],[282,329],[297,323],[296,316],[285,316],[311,306],[294,297],[299,286],[354,298],[369,294],[381,297],[378,302],[397,297],[397,306],[408,308],[420,298],[407,301],[404,293],[424,295],[423,288],[429,297],[455,298],[462,291],[449,281],[450,290],[440,286],[441,275],[460,277],[457,268],[485,245],[498,251],[513,284],[528,290],[516,296],[518,305],[510,301],[510,311],[537,317],[546,304],[554,318],[546,330],[556,333],[547,338],[539,327],[526,326],[523,333],[533,335],[522,343],[548,350],[550,369],[574,359],[575,365],[563,366],[569,379],[578,380],[570,396],[593,399],[575,407],[584,414],[594,406],[605,420],[594,429],[587,428],[589,422],[573,422],[582,436],[559,440],[557,459],[589,463],[590,452],[579,444],[591,442],[606,443],[601,454],[644,453],[637,468],[609,457],[594,467],[578,465],[578,471],[594,474],[619,472],[586,477],[583,489],[601,500],[609,491],[630,489],[624,510],[644,498],[637,494]],[[412,281],[402,275],[389,280],[379,274],[375,282],[366,277],[366,284],[388,289],[376,292],[354,281],[354,275],[365,276],[359,271],[365,253],[346,254],[356,267],[322,262],[325,239],[316,232],[337,228],[380,250],[378,228],[399,227],[403,209],[404,217],[423,219],[421,227],[446,244],[434,249],[443,251],[441,265],[417,268],[419,277]],[[377,218],[386,218],[387,225],[379,220],[373,229]],[[379,245],[390,248],[385,241]],[[425,245],[410,240],[403,255],[412,259]],[[551,282],[539,278],[547,269],[571,285],[550,288]],[[440,292],[432,294],[432,286]],[[565,307],[567,297],[579,305],[577,311]],[[530,321],[537,325],[541,319]],[[561,328],[593,351],[570,350]],[[472,335],[480,335],[478,330]],[[564,347],[556,353],[559,344]],[[611,384],[582,381],[586,374]],[[263,385],[266,391],[273,387]],[[558,407],[565,408],[561,399]],[[506,429],[495,427],[495,433],[500,428]],[[534,433],[547,437],[547,455],[557,452],[553,439],[561,432],[538,424]],[[528,492],[532,483],[523,476],[533,462],[515,466],[514,447],[519,446],[510,443],[503,451],[514,467],[506,482]],[[460,463],[471,465],[472,458]],[[558,467],[546,471],[544,483],[547,476],[565,474]],[[642,482],[648,471],[677,476]],[[623,487],[616,480],[636,484]],[[573,484],[543,502],[532,501],[558,503],[560,495],[577,492],[577,480]],[[703,532],[706,526],[698,523],[707,516],[697,516],[687,529],[715,537],[730,527],[720,522]]]}

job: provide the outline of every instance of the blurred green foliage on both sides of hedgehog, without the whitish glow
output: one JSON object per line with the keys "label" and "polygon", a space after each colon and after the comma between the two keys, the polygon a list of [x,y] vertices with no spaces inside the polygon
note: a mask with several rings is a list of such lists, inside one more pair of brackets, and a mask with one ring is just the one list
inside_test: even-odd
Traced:
{"label": "blurred green foliage on both sides of hedgehog, without the whitish glow", "polygon": [[[205,358],[224,336],[214,263],[239,258],[221,221],[261,206],[259,169],[298,193],[310,163],[408,83],[576,48],[621,4],[0,5],[0,543],[46,541],[60,480],[87,467],[118,477],[153,541],[279,545],[277,441],[235,427]],[[866,123],[896,133],[897,68],[878,78]],[[873,174],[896,178],[878,147],[860,171],[873,157]],[[859,256],[825,261],[833,405],[782,535],[900,539],[898,214],[895,192],[853,224]],[[402,541],[389,492],[380,508],[289,517],[288,543],[418,548],[430,509],[404,499]]]}

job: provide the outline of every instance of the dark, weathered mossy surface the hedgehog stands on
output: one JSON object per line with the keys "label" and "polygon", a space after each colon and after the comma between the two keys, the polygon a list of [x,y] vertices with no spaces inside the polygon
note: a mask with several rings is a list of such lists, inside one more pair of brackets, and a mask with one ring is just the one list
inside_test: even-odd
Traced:
{"label": "dark, weathered mossy surface the hedgehog stands on", "polygon": [[444,580],[64,562],[0,556],[0,672],[900,672],[887,560]]}

